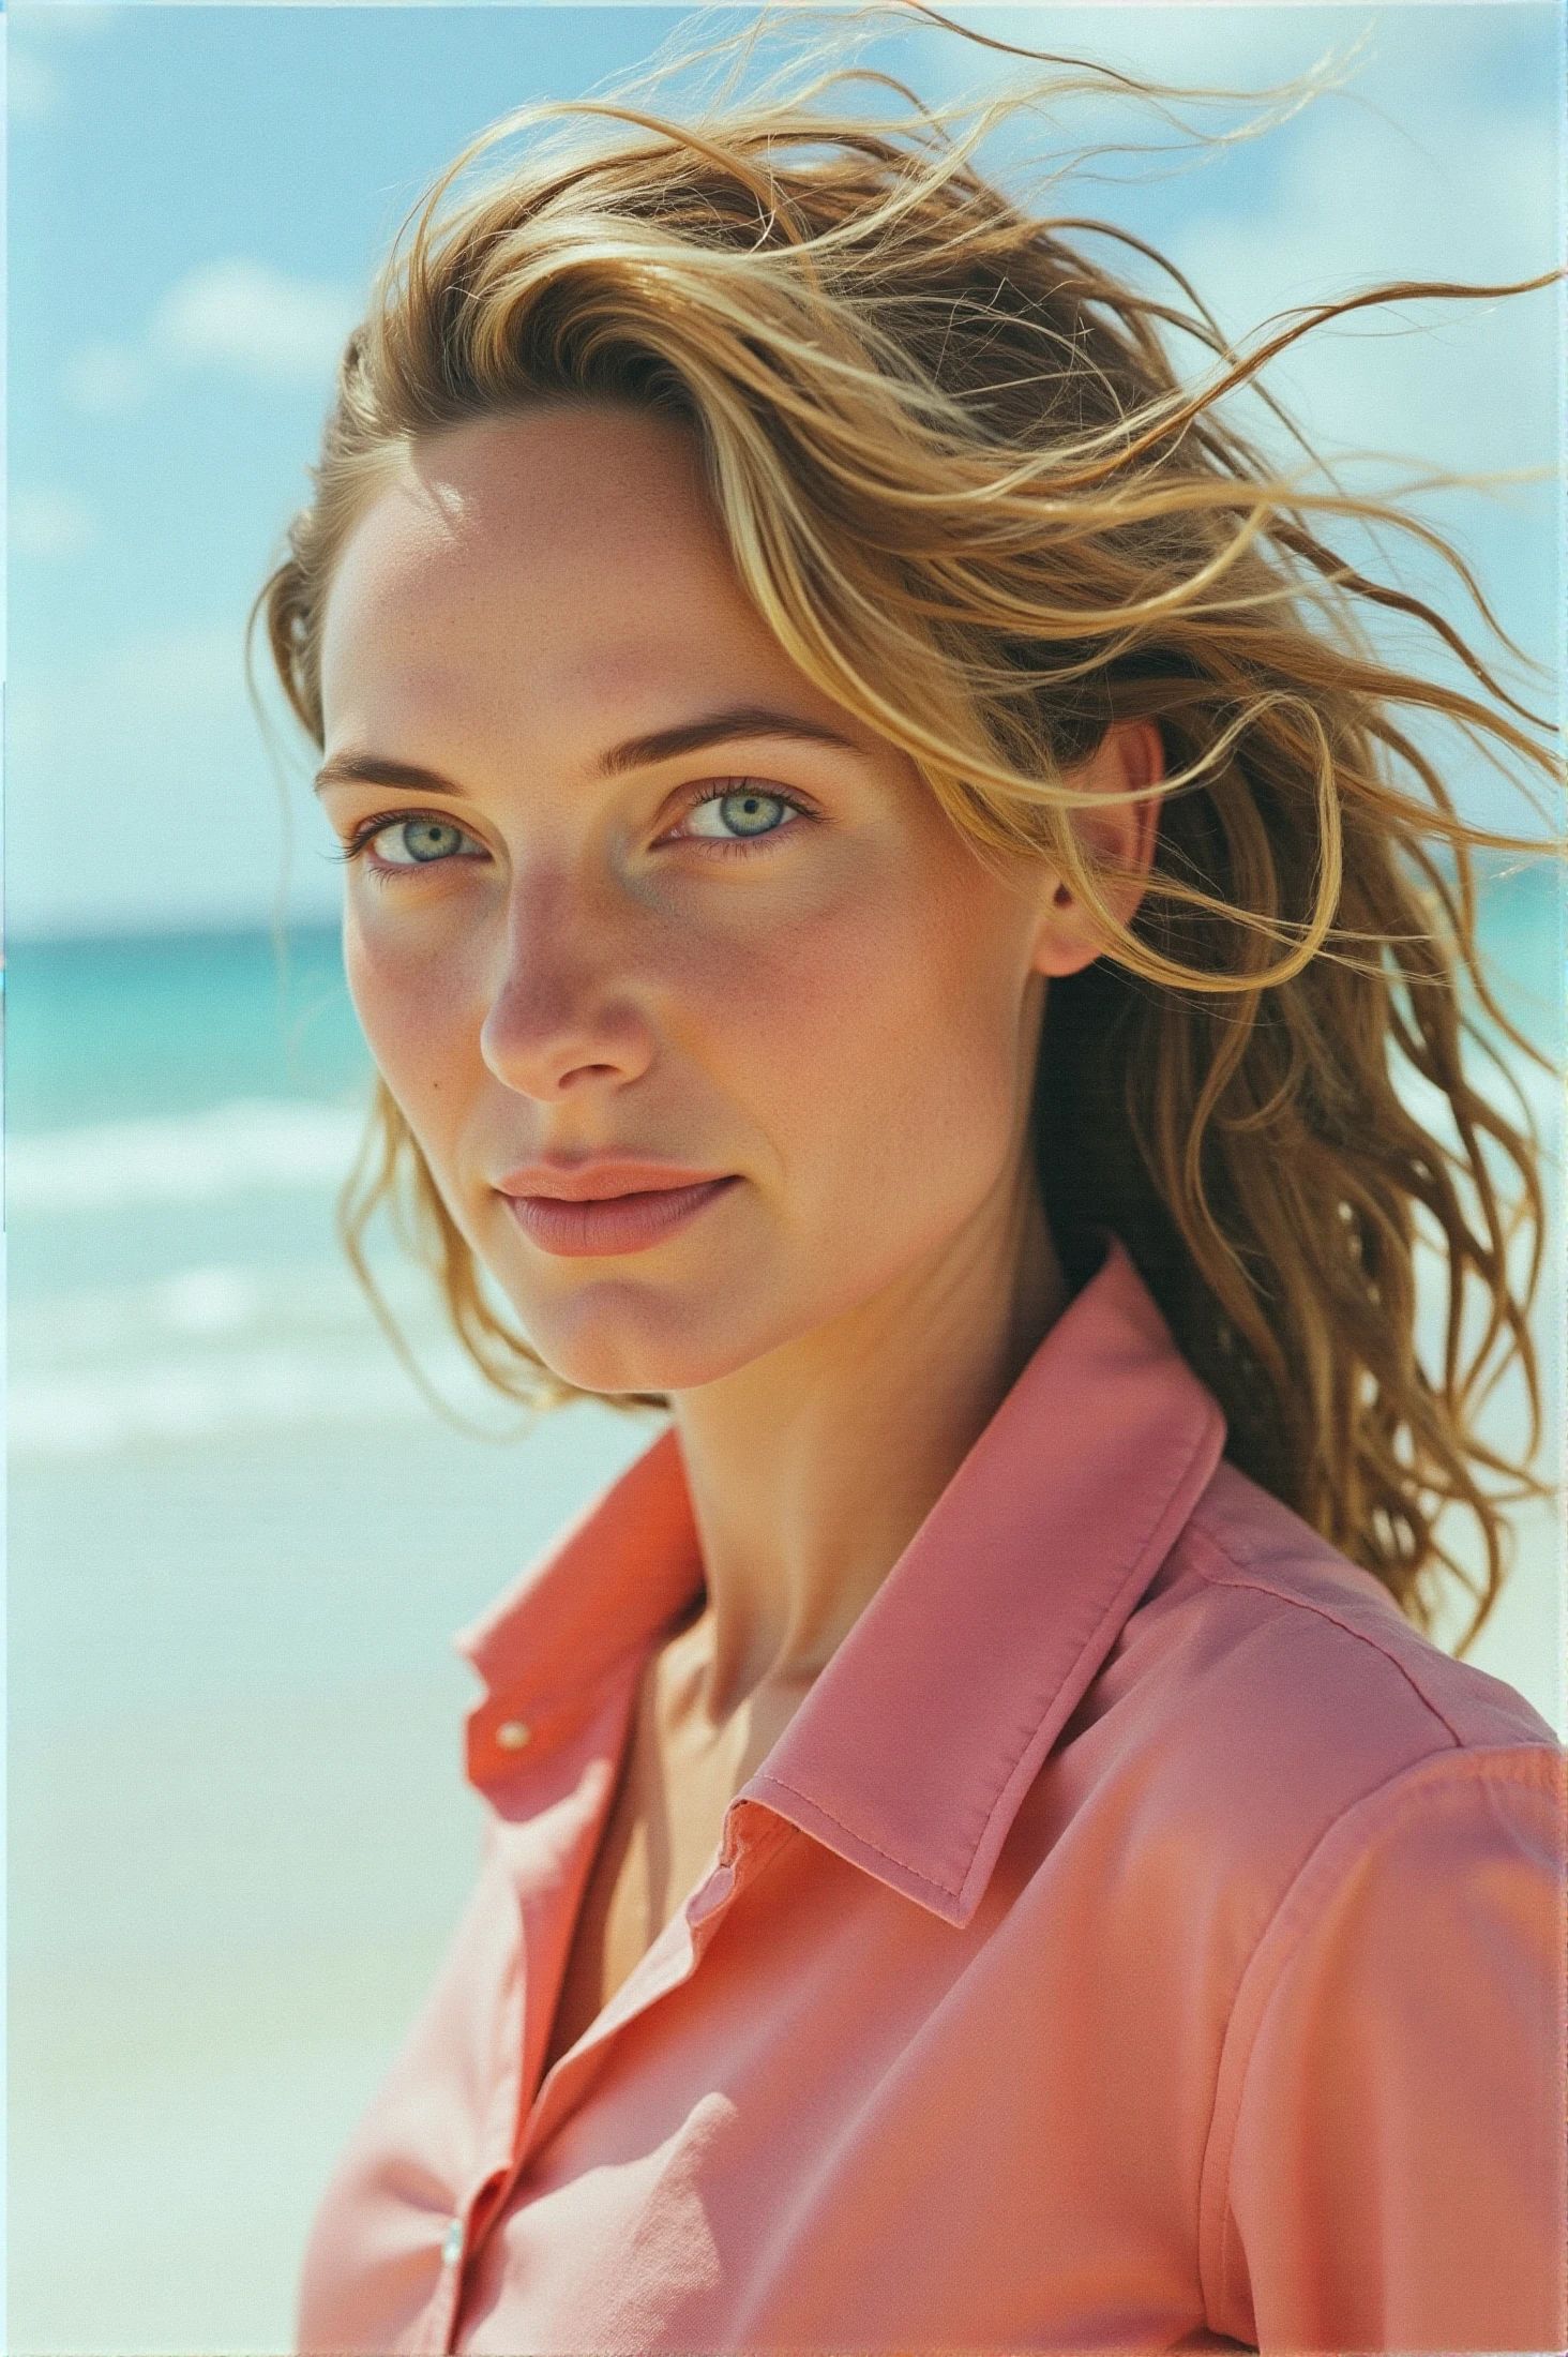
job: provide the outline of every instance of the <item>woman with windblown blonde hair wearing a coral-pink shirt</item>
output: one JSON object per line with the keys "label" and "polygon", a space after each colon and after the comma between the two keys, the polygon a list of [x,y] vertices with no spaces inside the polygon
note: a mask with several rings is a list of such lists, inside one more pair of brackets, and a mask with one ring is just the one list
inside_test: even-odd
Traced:
{"label": "woman with windblown blonde hair wearing a coral-pink shirt", "polygon": [[1559,1754],[1422,1633],[1540,1188],[1410,719],[1537,735],[927,118],[568,130],[436,189],[264,610],[351,1242],[672,1421],[467,1638],[302,2343],[1559,2345]]}

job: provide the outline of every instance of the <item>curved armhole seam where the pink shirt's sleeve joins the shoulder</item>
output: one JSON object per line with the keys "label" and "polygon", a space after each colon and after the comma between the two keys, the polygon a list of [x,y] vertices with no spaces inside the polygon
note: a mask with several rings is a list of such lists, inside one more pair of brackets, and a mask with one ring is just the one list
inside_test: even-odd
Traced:
{"label": "curved armhole seam where the pink shirt's sleeve joins the shoulder", "polygon": [[[1327,1619],[1332,1619],[1332,1615],[1327,1615]],[[1434,1714],[1434,1716],[1441,1718],[1441,1714]],[[1226,2310],[1231,2305],[1231,2251],[1233,2251],[1233,2239],[1236,2239],[1233,2237],[1233,2220],[1231,2220],[1231,2185],[1228,2185],[1231,2150],[1236,2145],[1236,2124],[1240,2121],[1240,2114],[1243,2114],[1243,2107],[1245,2107],[1247,2079],[1250,2079],[1250,2072],[1252,2072],[1252,2058],[1254,2058],[1254,2051],[1257,2051],[1259,2032],[1264,2027],[1264,2018],[1269,2013],[1269,2003],[1271,2003],[1273,1989],[1278,1989],[1278,1985],[1280,1985],[1280,1980],[1283,1980],[1283,1975],[1285,1975],[1292,1956],[1297,1954],[1302,1940],[1311,1930],[1316,1916],[1323,1912],[1320,1907],[1306,1907],[1306,1904],[1302,1904],[1302,1890],[1311,1888],[1311,1876],[1318,1869],[1323,1850],[1330,1846],[1330,1841],[1335,1838],[1335,1834],[1339,1834],[1351,1822],[1351,1817],[1361,1815],[1363,1810],[1372,1813],[1377,1808],[1377,1803],[1386,1803],[1391,1796],[1396,1796],[1401,1784],[1410,1784],[1408,1798],[1412,1803],[1424,1796],[1427,1784],[1436,1782],[1438,1789],[1441,1789],[1441,1796],[1450,1798],[1450,1796],[1464,1796],[1464,1794],[1469,1794],[1471,1787],[1476,1782],[1483,1782],[1483,1780],[1488,1780],[1488,1782],[1490,1780],[1500,1780],[1504,1784],[1518,1784],[1526,1791],[1540,1794],[1544,1801],[1551,1801],[1554,1798],[1551,1791],[1547,1787],[1542,1787],[1542,1782],[1540,1782],[1540,1775],[1542,1775],[1540,1758],[1542,1756],[1547,1756],[1547,1744],[1507,1744],[1507,1747],[1495,1747],[1495,1744],[1488,1744],[1488,1747],[1474,1747],[1474,1744],[1469,1744],[1467,1747],[1467,1744],[1457,1744],[1455,1749],[1429,1751],[1424,1758],[1405,1761],[1401,1768],[1396,1768],[1391,1775],[1386,1775],[1382,1780],[1382,1784],[1375,1784],[1370,1791],[1363,1791],[1356,1801],[1349,1803],[1349,1808],[1342,1808],[1330,1820],[1330,1824],[1323,1827],[1323,1831],[1318,1834],[1318,1838],[1313,1841],[1313,1846],[1302,1857],[1297,1871],[1285,1883],[1285,1888],[1283,1888],[1280,1897],[1276,1900],[1273,1909],[1269,1912],[1269,1921],[1261,1926],[1257,1940],[1247,1949],[1247,1961],[1243,1963],[1240,1973],[1236,1975],[1236,1994],[1231,1996],[1231,2006],[1228,2006],[1228,2013],[1226,2013],[1226,2029],[1224,2029],[1224,2036],[1219,2041],[1219,2058],[1217,2058],[1217,2065],[1214,2065],[1214,2093],[1212,2093],[1212,2100],[1210,2100],[1210,2126],[1207,2126],[1205,2140],[1203,2140],[1203,2161],[1198,2166],[1198,2237],[1195,2239],[1198,2239],[1198,2270],[1200,2270],[1200,2279],[1203,2279],[1205,2272],[1207,2272],[1205,2263],[1203,2263],[1205,2187],[1212,2183],[1212,2173],[1219,2168],[1219,2159],[1214,2154],[1214,2138],[1219,2133],[1217,2114],[1219,2114],[1219,2095],[1221,2095],[1221,2088],[1224,2088],[1224,2081],[1226,2081],[1226,2062],[1228,2062],[1228,2053],[1231,2053],[1231,2039],[1238,2034],[1238,2029],[1236,2029],[1236,2015],[1240,2011],[1243,1996],[1247,1996],[1247,1982],[1250,1982],[1252,1973],[1257,1970],[1259,1956],[1264,1954],[1264,1949],[1266,1949],[1266,1945],[1269,1945],[1276,1926],[1287,1916],[1287,1912],[1292,1909],[1292,1904],[1302,1907],[1302,1921],[1297,1923],[1294,1933],[1283,1942],[1280,1954],[1278,1954],[1278,1959],[1273,1963],[1273,1970],[1269,1975],[1269,1987],[1264,1989],[1264,1994],[1259,1996],[1257,2006],[1252,2008],[1252,2027],[1245,2032],[1245,2053],[1240,2055],[1240,2060],[1236,2065],[1236,2074],[1238,2074],[1236,2100],[1231,2102],[1231,2124],[1226,2128],[1226,2140],[1228,2140],[1228,2150],[1226,2150],[1226,2157],[1224,2157],[1226,2173],[1224,2173],[1224,2185],[1219,2187],[1219,2192],[1214,2197],[1214,2199],[1221,2201],[1221,2213],[1219,2213],[1219,2253],[1217,2253],[1217,2286],[1214,2289],[1217,2289],[1217,2296],[1219,2296],[1219,2300],[1224,2303]],[[1448,1789],[1443,1791],[1443,1780],[1450,1780],[1450,1777],[1452,1777],[1452,1784],[1448,1784]],[[1327,1890],[1323,1895],[1323,1904],[1327,1904],[1327,1900],[1332,1900],[1335,1890],[1339,1890],[1342,1883],[1349,1879],[1349,1874],[1356,1871],[1356,1867],[1365,1860],[1368,1850],[1372,1850],[1377,1846],[1377,1841],[1386,1838],[1403,1822],[1403,1815],[1405,1815],[1405,1810],[1391,1813],[1389,1820],[1384,1824],[1379,1824],[1368,1836],[1368,1841],[1363,1841],[1356,1848],[1356,1853],[1344,1862],[1342,1871],[1332,1876],[1332,1883],[1327,1886]],[[1224,2317],[1214,2317],[1214,2312],[1212,2312],[1212,2305],[1210,2305],[1210,2298],[1207,2298],[1207,2286],[1205,2286],[1205,2303],[1203,2305],[1205,2305],[1205,2322],[1214,2331],[1228,2331],[1228,2324],[1224,2322]]]}

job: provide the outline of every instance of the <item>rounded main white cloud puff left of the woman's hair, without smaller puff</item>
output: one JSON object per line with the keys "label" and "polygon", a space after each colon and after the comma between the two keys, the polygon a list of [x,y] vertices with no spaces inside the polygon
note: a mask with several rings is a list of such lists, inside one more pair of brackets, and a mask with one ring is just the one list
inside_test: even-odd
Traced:
{"label": "rounded main white cloud puff left of the woman's hair, without smaller puff", "polygon": [[158,304],[151,344],[186,368],[233,368],[269,384],[330,375],[358,302],[349,288],[231,257],[191,271]]}

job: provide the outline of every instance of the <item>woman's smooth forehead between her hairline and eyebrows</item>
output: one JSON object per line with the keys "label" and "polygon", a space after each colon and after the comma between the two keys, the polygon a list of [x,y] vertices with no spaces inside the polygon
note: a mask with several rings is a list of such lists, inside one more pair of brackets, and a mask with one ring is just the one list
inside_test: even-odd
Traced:
{"label": "woman's smooth forehead between her hairline and eyebrows", "polygon": [[[689,431],[542,408],[415,443],[328,594],[323,705],[575,705],[799,674],[736,580]],[[804,681],[802,681],[804,686]]]}

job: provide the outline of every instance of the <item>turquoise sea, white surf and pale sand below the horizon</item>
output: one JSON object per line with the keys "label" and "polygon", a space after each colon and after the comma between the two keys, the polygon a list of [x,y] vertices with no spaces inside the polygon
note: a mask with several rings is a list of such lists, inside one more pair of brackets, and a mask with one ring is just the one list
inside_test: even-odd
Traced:
{"label": "turquoise sea, white surf and pale sand below the horizon", "polygon": [[[1495,877],[1483,938],[1561,1072],[1556,879]],[[14,2352],[290,2345],[325,2173],[474,1874],[448,1638],[653,1428],[528,1426],[382,1247],[460,1421],[398,1365],[332,1233],[370,1080],[337,940],[285,952],[9,962]],[[1561,1169],[1561,1089],[1523,1084]],[[1561,1221],[1540,1339],[1561,1431]],[[1559,1593],[1523,1511],[1474,1657],[1563,1725]]]}

